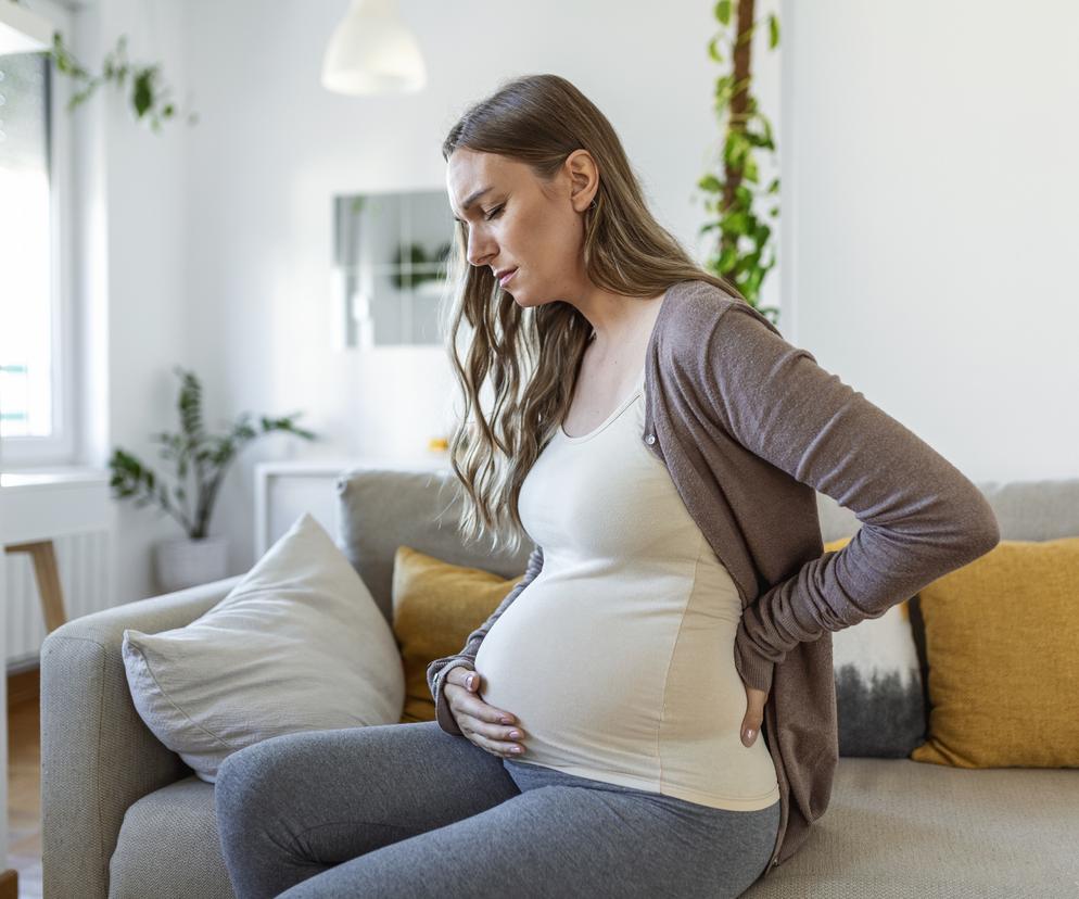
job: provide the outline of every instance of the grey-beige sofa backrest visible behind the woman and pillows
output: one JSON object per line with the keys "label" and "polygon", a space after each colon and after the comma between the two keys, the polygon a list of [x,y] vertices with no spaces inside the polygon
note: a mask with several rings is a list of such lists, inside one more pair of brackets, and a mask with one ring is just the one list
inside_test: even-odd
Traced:
{"label": "grey-beige sofa backrest visible behind the woman and pillows", "polygon": [[[1079,536],[1079,478],[976,485],[1005,540]],[[356,467],[338,477],[337,489],[339,546],[390,622],[393,558],[401,545],[505,578],[522,573],[532,552],[528,542],[517,554],[494,553],[488,542],[465,547],[457,532],[461,501],[448,469]],[[817,493],[816,501],[825,543],[851,536],[861,527],[830,496]]]}

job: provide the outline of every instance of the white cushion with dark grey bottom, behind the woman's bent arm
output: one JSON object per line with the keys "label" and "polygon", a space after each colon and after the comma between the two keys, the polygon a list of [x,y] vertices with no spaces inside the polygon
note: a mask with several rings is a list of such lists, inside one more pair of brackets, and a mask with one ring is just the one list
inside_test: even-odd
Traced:
{"label": "white cushion with dark grey bottom, behind the woman's bent arm", "polygon": [[[838,552],[848,543],[842,537],[824,549]],[[925,740],[925,689],[910,609],[904,599],[832,635],[840,756],[905,759]]]}

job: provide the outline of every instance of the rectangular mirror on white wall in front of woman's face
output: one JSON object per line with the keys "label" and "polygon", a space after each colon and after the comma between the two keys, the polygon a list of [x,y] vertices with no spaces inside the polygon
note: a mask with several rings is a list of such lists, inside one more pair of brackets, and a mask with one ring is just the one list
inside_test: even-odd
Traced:
{"label": "rectangular mirror on white wall in front of woman's face", "polygon": [[444,342],[454,217],[444,190],[333,198],[333,302],[346,347]]}

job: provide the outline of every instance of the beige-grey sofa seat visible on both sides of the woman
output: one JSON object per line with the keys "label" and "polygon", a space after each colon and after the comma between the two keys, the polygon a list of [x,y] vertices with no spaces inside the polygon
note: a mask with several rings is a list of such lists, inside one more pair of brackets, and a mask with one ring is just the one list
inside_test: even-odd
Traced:
{"label": "beige-grey sofa seat visible on both sides of the woman", "polygon": [[[1076,808],[1077,769],[841,758],[805,845],[744,897],[1074,899]],[[232,899],[213,785],[191,775],[132,805],[110,879],[110,899]]]}

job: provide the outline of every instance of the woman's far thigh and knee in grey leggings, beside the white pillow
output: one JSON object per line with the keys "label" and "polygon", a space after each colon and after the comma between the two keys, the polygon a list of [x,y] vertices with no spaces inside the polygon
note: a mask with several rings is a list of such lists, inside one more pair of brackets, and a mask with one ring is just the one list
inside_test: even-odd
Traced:
{"label": "woman's far thigh and knee in grey leggings, beside the white pillow", "polygon": [[225,760],[214,794],[225,863],[247,899],[519,792],[500,758],[424,721],[262,740]]}

